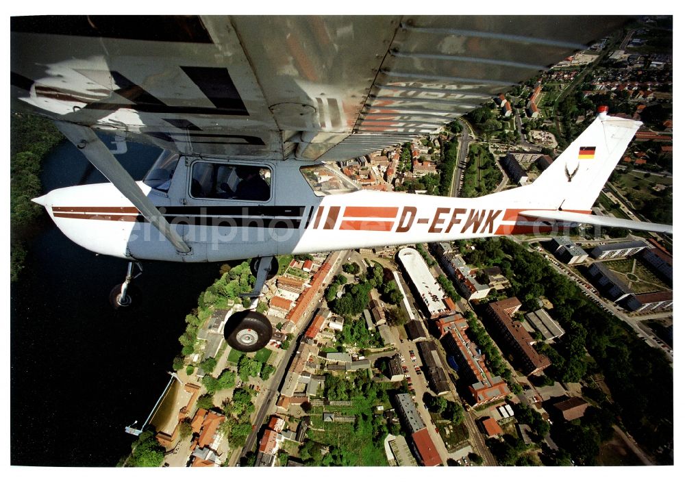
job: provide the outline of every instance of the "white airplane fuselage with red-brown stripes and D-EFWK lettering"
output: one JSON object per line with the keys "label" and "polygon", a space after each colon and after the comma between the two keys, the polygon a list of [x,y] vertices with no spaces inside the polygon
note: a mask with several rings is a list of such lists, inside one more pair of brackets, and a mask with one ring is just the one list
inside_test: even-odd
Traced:
{"label": "white airplane fuselage with red-brown stripes and D-EFWK lettering", "polygon": [[[128,259],[177,262],[216,262],[551,229],[548,223],[517,216],[523,209],[544,206],[517,208],[488,196],[464,199],[374,190],[322,195],[323,188],[333,182],[319,170],[331,169],[325,164],[243,162],[258,164],[269,173],[268,199],[209,199],[220,194],[200,194],[198,176],[193,174],[198,172],[193,170],[196,164],[207,163],[206,159],[181,157],[164,190],[138,183],[190,246],[190,253],[178,253],[110,183],[55,190],[40,202],[66,236],[86,249]],[[215,163],[222,167],[226,164]],[[316,181],[312,181],[312,173],[316,173]]]}

